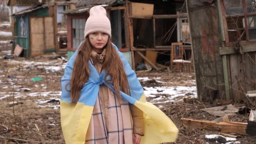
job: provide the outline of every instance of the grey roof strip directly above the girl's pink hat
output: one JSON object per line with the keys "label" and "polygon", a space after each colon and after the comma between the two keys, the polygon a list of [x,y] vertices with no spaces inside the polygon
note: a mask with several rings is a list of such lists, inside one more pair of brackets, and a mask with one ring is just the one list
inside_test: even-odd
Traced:
{"label": "grey roof strip directly above the girl's pink hat", "polygon": [[85,7],[85,6],[94,6],[94,5],[100,5],[100,4],[113,4],[117,0],[79,0],[76,3],[76,7]]}

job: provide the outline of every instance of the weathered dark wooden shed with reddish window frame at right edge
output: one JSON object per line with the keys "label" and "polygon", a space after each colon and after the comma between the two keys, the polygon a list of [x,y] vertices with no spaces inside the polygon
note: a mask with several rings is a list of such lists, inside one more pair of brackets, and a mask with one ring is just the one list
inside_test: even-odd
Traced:
{"label": "weathered dark wooden shed with reddish window frame at right edge", "polygon": [[188,0],[197,92],[203,101],[243,101],[256,90],[256,3]]}

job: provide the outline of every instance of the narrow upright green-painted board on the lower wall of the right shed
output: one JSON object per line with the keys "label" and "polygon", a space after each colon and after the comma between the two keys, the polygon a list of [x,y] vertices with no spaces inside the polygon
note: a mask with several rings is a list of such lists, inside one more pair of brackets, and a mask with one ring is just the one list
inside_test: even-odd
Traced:
{"label": "narrow upright green-painted board on the lower wall of the right shed", "polygon": [[230,90],[229,90],[229,75],[227,70],[227,62],[226,62],[226,55],[222,56],[223,62],[223,73],[224,73],[224,82],[225,82],[225,89],[226,89],[226,100],[230,100]]}

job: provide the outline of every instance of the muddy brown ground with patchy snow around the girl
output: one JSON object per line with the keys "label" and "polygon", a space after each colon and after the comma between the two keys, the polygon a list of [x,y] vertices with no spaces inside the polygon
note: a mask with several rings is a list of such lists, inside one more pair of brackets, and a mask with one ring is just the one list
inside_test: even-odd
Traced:
{"label": "muddy brown ground with patchy snow around the girl", "polygon": [[[23,143],[22,140],[27,140],[27,142],[24,141],[27,144],[65,144],[58,107],[61,92],[60,79],[64,70],[45,69],[46,66],[59,65],[56,58],[39,56],[25,60],[50,64],[25,65],[24,59],[21,58],[16,58],[16,61],[20,63],[0,59],[0,144],[20,144]],[[65,63],[66,61],[61,62]],[[61,67],[61,65],[59,66]],[[162,70],[138,73],[137,76],[150,79],[149,81],[141,80],[141,85],[144,87],[195,86],[194,75],[188,73],[171,73]],[[31,80],[34,77],[42,77],[42,81],[34,82]],[[5,98],[3,98],[4,96]],[[165,101],[169,96],[165,94],[161,101]],[[190,97],[190,101],[183,102],[184,97]],[[205,139],[205,134],[220,134],[220,132],[203,128],[191,129],[181,121],[181,118],[210,121],[217,118],[200,110],[213,105],[201,103],[193,98],[193,93],[187,93],[184,96],[176,97],[174,101],[155,104],[174,121],[180,131],[175,143],[166,144],[215,144],[214,141]],[[148,101],[151,99],[151,97],[147,98]],[[16,101],[15,105],[12,105],[13,101]],[[245,104],[236,104],[235,106],[240,108],[243,105]],[[246,122],[249,114],[235,115],[229,118],[230,121]],[[240,141],[241,144],[256,144],[256,140],[249,136],[238,137],[237,141]]]}

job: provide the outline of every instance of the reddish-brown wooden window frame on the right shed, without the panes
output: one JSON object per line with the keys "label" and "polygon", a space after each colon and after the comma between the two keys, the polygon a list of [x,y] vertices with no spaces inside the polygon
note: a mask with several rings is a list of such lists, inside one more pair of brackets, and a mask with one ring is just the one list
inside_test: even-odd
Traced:
{"label": "reddish-brown wooden window frame on the right shed, without the panes", "polygon": [[[230,42],[229,35],[228,35],[228,25],[227,25],[227,18],[229,17],[243,17],[244,18],[244,23],[245,23],[245,36],[246,40],[243,40],[242,42],[256,42],[256,39],[249,39],[249,27],[248,27],[248,20],[247,18],[249,16],[256,16],[256,13],[247,13],[247,6],[246,6],[246,0],[243,1],[243,14],[236,14],[236,15],[226,15],[226,7],[224,5],[224,0],[220,0],[220,6],[221,6],[221,14],[223,18],[223,27],[224,27],[224,34],[225,34],[225,44],[226,46],[233,46],[236,44],[236,42]],[[256,29],[256,27],[255,27]]]}

